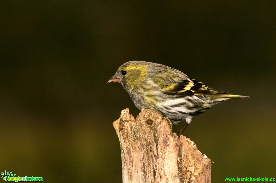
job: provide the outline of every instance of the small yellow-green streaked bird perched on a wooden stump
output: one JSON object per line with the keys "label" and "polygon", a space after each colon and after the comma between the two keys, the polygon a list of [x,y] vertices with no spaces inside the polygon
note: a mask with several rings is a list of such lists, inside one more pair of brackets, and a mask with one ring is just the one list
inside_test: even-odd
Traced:
{"label": "small yellow-green streaked bird perched on a wooden stump", "polygon": [[124,63],[107,81],[110,82],[123,85],[139,110],[145,108],[161,112],[173,124],[185,121],[177,133],[178,137],[194,117],[213,105],[231,98],[250,97],[215,90],[179,70],[145,61]]}

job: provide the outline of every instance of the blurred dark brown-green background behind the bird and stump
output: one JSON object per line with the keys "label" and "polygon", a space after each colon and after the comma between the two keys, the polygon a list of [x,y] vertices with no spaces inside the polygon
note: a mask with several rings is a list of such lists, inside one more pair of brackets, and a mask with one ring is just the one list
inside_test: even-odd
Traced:
{"label": "blurred dark brown-green background behind the bird and stump", "polygon": [[[1,1],[0,172],[45,182],[121,182],[112,122],[139,110],[118,84],[130,60],[217,90],[184,135],[212,181],[276,178],[275,1]],[[173,126],[177,132],[182,127]]]}

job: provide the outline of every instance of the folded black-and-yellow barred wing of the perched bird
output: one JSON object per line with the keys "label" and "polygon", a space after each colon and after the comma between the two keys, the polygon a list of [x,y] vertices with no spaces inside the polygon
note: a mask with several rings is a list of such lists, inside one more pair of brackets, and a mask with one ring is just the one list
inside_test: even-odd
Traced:
{"label": "folded black-and-yellow barred wing of the perched bird", "polygon": [[167,95],[180,95],[180,96],[191,96],[191,95],[215,95],[215,94],[229,94],[224,91],[214,90],[202,82],[195,79],[184,79],[176,83],[159,84],[160,91]]}

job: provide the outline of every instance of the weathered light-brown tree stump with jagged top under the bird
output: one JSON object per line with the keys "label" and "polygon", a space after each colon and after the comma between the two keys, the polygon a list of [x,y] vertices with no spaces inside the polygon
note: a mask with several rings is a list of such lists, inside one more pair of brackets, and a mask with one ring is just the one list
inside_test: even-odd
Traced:
{"label": "weathered light-brown tree stump with jagged top under the bird", "polygon": [[211,160],[193,141],[172,133],[161,113],[142,109],[136,119],[129,109],[113,122],[121,144],[123,183],[211,182]]}

